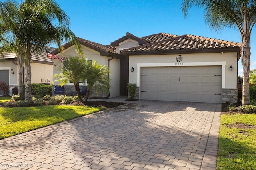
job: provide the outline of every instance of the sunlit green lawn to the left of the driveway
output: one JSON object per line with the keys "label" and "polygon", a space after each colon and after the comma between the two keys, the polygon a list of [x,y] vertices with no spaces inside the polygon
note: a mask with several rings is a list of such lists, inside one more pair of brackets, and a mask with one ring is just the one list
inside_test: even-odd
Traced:
{"label": "sunlit green lawn to the left of the driveway", "polygon": [[[1,98],[2,101],[2,98]],[[0,108],[0,139],[104,110],[103,107],[48,105]]]}

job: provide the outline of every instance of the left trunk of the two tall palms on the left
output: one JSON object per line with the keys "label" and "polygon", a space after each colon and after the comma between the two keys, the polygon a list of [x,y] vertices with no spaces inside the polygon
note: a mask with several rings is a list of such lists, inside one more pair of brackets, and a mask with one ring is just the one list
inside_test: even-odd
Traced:
{"label": "left trunk of the two tall palms on the left", "polygon": [[18,57],[18,69],[19,69],[19,86],[18,86],[18,94],[20,95],[21,99],[24,99],[23,94],[23,55],[24,53],[22,51],[19,52]]}

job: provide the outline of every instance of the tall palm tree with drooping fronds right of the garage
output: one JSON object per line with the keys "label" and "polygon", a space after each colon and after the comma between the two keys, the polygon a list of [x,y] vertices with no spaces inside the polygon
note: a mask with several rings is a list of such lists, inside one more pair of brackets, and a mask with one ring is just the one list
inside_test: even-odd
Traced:
{"label": "tall palm tree with drooping fronds right of the garage", "polygon": [[250,104],[250,35],[256,23],[255,0],[184,0],[182,12],[186,17],[188,9],[199,6],[205,10],[208,26],[217,31],[221,28],[238,28],[242,38],[241,60],[243,65],[243,98],[242,105]]}

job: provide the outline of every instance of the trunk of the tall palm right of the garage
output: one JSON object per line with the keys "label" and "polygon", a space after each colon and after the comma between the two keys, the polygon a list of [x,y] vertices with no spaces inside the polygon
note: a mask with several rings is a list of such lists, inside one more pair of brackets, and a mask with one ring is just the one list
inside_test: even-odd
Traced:
{"label": "trunk of the tall palm right of the garage", "polygon": [[[246,37],[246,36],[245,36]],[[249,37],[244,38],[242,52],[243,65],[243,98],[242,105],[250,104],[250,90],[249,90],[249,74],[250,74],[250,40]]]}

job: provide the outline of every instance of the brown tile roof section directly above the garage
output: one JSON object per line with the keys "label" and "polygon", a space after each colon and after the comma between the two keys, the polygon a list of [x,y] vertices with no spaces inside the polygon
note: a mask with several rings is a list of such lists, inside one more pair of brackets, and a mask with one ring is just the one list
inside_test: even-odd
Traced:
{"label": "brown tile roof section directly above the garage", "polygon": [[[155,34],[156,35],[156,34]],[[170,34],[172,35],[172,34]],[[165,37],[162,36],[164,39]],[[171,37],[171,36],[170,36]],[[129,49],[123,49],[122,53],[139,52],[139,51],[175,51],[175,50],[193,50],[193,49],[240,49],[241,43],[218,40],[194,35],[175,36],[161,40],[160,36],[146,37],[151,43],[139,45]],[[154,39],[155,38],[155,39]],[[157,41],[160,40],[160,41]]]}

